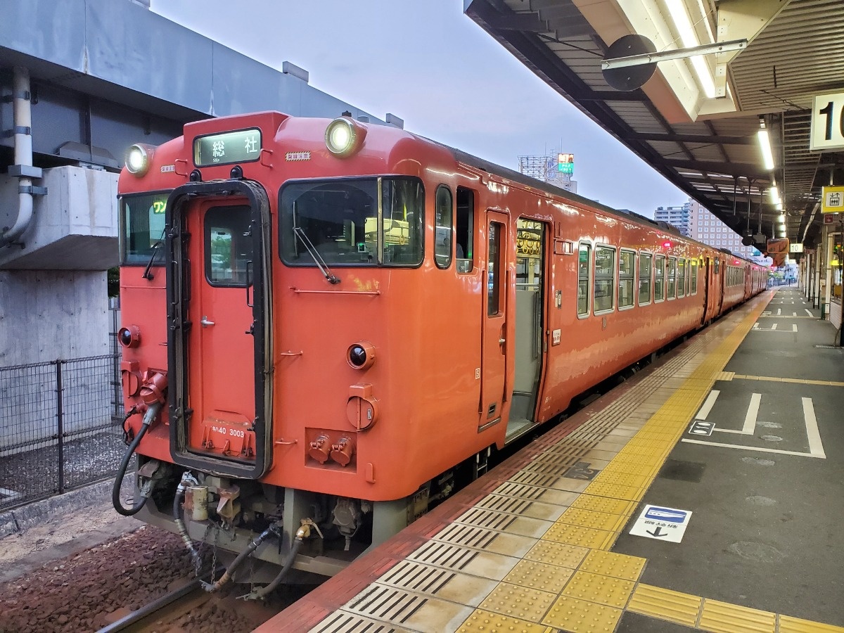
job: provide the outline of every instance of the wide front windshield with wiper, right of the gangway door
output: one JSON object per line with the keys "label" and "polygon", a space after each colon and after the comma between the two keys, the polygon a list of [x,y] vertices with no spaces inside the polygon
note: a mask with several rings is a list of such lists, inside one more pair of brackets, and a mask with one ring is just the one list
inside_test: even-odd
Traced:
{"label": "wide front windshield with wiper, right of the gangway door", "polygon": [[415,178],[295,181],[280,192],[281,258],[316,266],[297,234],[332,266],[416,266],[423,256],[425,193]]}

